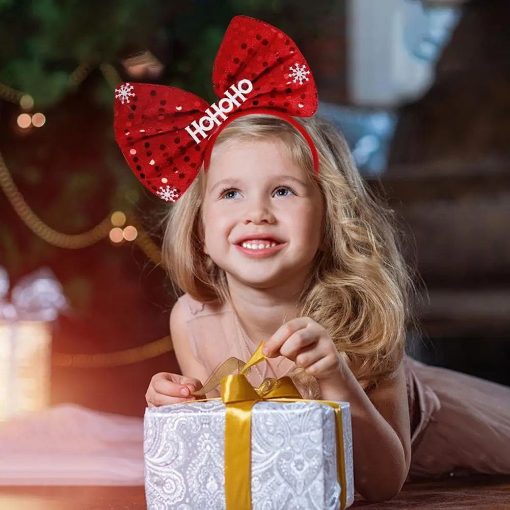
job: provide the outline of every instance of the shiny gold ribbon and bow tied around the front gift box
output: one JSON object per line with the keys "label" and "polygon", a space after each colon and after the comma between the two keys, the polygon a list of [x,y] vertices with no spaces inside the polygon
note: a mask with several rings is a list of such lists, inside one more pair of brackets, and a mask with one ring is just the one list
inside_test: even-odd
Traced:
{"label": "shiny gold ribbon and bow tied around the front gift box", "polygon": [[[246,379],[247,371],[267,359],[261,343],[250,360],[244,364],[237,358],[229,358],[209,377],[195,396],[205,395],[220,384],[221,400],[226,406],[225,414],[225,503],[227,510],[251,510],[251,409],[261,400],[276,402],[319,402],[333,407],[335,411],[337,442],[337,473],[340,482],[340,508],[347,501],[345,450],[343,440],[342,408],[337,402],[307,400],[290,377],[267,378],[259,388],[253,388]],[[231,369],[238,374],[224,375]]]}

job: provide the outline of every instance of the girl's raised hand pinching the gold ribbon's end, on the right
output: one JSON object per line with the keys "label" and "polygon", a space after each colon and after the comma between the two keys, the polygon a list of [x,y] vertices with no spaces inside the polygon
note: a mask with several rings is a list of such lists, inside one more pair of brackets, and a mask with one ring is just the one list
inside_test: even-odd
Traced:
{"label": "girl's raised hand pinching the gold ribbon's end, on the right", "polygon": [[338,377],[344,360],[325,328],[310,317],[298,317],[276,330],[265,343],[266,356],[285,356],[316,379]]}

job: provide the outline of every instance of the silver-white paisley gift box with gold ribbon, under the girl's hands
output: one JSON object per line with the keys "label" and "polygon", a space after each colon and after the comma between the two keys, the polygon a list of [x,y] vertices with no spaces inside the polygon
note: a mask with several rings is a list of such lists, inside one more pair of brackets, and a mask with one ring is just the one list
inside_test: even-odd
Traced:
{"label": "silver-white paisley gift box with gold ribbon, under the girl's hands", "polygon": [[[350,506],[349,404],[296,398],[290,378],[275,382],[276,391],[256,391],[243,375],[228,376],[220,399],[148,408],[147,510]],[[293,398],[282,391],[290,386]]]}

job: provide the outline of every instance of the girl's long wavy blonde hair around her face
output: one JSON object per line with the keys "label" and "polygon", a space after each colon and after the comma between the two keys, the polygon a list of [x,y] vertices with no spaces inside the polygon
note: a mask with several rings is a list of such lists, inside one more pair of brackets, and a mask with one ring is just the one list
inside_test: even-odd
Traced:
{"label": "girl's long wavy blonde hair around her face", "polygon": [[[228,124],[215,148],[228,140],[281,141],[307,169],[324,201],[323,246],[300,298],[300,315],[326,328],[356,378],[368,390],[394,374],[402,360],[412,289],[393,213],[373,197],[356,169],[343,136],[318,117],[296,119],[319,154],[288,122],[252,114]],[[224,271],[201,248],[203,169],[166,219],[162,263],[182,292],[201,302],[229,300]]]}

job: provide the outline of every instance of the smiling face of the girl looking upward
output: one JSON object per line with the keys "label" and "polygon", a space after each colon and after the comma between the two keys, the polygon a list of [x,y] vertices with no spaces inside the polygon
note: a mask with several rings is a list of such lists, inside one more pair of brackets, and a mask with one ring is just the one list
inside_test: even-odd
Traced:
{"label": "smiling face of the girl looking upward", "polygon": [[302,288],[324,215],[307,171],[281,142],[259,140],[220,144],[206,175],[203,250],[229,285]]}

